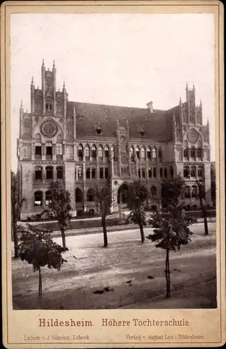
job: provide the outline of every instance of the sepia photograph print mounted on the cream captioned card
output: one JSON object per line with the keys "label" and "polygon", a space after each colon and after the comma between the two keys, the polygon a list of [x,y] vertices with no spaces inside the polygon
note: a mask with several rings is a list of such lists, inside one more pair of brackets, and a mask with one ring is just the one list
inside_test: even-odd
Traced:
{"label": "sepia photograph print mounted on the cream captioned card", "polygon": [[10,18],[14,310],[216,309],[214,16]]}

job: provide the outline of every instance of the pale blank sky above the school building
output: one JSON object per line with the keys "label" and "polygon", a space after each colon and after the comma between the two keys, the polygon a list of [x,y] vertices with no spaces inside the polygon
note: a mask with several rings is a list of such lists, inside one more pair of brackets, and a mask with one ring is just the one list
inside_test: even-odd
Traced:
{"label": "pale blank sky above the school building", "polygon": [[197,14],[10,15],[11,163],[17,168],[19,105],[31,111],[30,85],[56,65],[69,101],[167,110],[186,101],[186,82],[202,99],[215,159],[214,18]]}

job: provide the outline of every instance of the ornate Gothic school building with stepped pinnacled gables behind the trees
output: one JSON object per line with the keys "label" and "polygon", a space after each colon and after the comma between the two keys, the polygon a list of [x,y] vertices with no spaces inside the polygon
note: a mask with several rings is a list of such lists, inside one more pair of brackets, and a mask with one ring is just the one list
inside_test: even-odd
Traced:
{"label": "ornate Gothic school building with stepped pinnacled gables behind the trees", "polygon": [[198,207],[196,180],[204,181],[211,203],[209,122],[202,124],[202,103],[195,87],[170,110],[71,102],[65,83],[56,91],[56,67],[42,61],[41,88],[31,81],[31,112],[19,109],[17,140],[21,219],[49,205],[49,183],[62,180],[71,194],[72,215],[96,209],[94,187],[109,186],[111,211],[127,205],[130,181],[147,181],[149,207],[161,205],[161,179],[186,180],[186,205]]}

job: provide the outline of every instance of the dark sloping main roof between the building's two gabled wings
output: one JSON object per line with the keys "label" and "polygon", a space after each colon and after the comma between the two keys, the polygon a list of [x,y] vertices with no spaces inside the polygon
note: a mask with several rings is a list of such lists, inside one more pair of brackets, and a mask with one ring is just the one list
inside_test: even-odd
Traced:
{"label": "dark sloping main roof between the building's two gabled wings", "polygon": [[[67,116],[72,115],[73,110],[76,112],[77,137],[95,136],[98,126],[102,128],[102,137],[115,137],[117,121],[125,125],[128,120],[130,138],[172,140],[173,113],[167,110],[153,110],[151,113],[147,108],[67,102]],[[144,136],[140,135],[142,128]]]}

